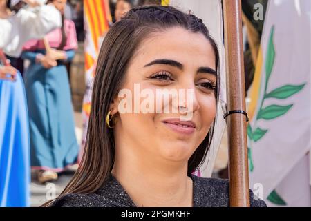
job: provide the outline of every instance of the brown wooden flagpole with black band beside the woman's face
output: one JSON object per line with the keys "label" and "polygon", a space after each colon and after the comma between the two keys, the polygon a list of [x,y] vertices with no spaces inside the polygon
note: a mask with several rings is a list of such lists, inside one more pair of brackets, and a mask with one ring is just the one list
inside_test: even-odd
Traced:
{"label": "brown wooden flagpole with black band beside the woman's face", "polygon": [[[249,206],[241,0],[223,0],[229,145],[229,203]],[[243,113],[243,114],[242,114]]]}

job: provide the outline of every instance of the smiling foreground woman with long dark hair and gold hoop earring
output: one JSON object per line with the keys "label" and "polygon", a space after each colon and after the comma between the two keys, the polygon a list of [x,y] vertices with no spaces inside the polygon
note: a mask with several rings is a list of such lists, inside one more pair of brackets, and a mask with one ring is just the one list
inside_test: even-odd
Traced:
{"label": "smiling foreground woman with long dark hair and gold hoop earring", "polygon": [[[169,99],[158,100],[161,92]],[[209,150],[217,100],[218,49],[202,20],[172,7],[133,8],[104,39],[84,157],[50,204],[228,206],[227,180],[191,174]]]}

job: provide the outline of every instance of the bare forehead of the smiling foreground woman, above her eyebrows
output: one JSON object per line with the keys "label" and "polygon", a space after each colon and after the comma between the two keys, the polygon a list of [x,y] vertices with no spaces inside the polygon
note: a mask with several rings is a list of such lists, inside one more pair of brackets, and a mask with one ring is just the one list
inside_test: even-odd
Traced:
{"label": "bare forehead of the smiling foreground woman, above her eyebrows", "polygon": [[202,33],[189,32],[185,28],[153,33],[142,41],[133,62],[144,63],[163,58],[177,60],[185,66],[192,64],[216,68],[215,52],[209,40]]}

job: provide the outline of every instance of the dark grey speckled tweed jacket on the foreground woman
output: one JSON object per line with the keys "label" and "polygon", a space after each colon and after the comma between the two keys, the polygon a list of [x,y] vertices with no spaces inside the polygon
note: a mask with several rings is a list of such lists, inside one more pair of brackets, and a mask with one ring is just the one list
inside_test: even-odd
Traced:
{"label": "dark grey speckled tweed jacket on the foreground woman", "polygon": [[[194,182],[194,207],[229,206],[229,181],[191,175]],[[252,207],[265,207],[250,191]],[[53,207],[135,207],[135,204],[112,174],[95,193],[69,193],[57,198]]]}

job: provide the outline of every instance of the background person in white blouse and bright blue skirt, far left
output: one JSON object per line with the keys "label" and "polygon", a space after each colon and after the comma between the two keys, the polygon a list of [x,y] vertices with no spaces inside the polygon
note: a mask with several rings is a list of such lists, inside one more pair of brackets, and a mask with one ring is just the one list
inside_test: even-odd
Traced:
{"label": "background person in white blouse and bright blue skirt, far left", "polygon": [[[19,57],[23,44],[60,27],[61,16],[53,5],[25,0],[0,0],[0,206],[30,205],[30,149],[25,89],[20,73],[4,52]],[[37,7],[39,6],[39,7]],[[36,7],[35,10],[32,10]],[[14,10],[14,11],[13,11]],[[3,50],[3,52],[2,52]],[[14,62],[11,63],[14,65]]]}

